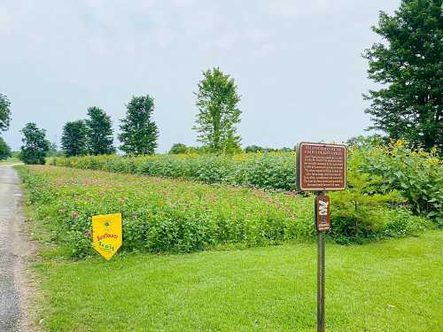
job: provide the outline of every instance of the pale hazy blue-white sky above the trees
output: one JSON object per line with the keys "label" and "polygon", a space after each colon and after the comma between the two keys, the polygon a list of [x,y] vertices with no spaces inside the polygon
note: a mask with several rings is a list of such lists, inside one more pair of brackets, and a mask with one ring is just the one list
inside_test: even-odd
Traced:
{"label": "pale hazy blue-white sky above the trees", "polygon": [[[132,96],[155,99],[158,152],[196,143],[202,71],[228,73],[242,96],[245,147],[293,147],[364,135],[373,86],[361,52],[400,0],[1,0],[3,134],[18,150],[27,122],[59,144],[66,121],[98,106],[114,134]],[[118,141],[115,143],[118,145]]]}

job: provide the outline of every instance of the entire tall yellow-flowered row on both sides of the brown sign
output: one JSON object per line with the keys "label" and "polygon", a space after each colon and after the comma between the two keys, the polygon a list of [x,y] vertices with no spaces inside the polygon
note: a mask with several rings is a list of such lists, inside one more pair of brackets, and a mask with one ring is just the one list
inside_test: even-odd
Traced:
{"label": "entire tall yellow-flowered row on both sides of the brown sign", "polygon": [[[294,153],[247,153],[235,156],[155,155],[146,157],[85,156],[53,158],[55,166],[146,174],[204,183],[246,185],[261,189],[296,190]],[[443,226],[443,166],[435,151],[408,148],[398,141],[389,145],[363,144],[348,151],[348,187],[353,173],[380,177],[365,194],[397,190],[412,211]],[[369,184],[368,184],[369,185]]]}

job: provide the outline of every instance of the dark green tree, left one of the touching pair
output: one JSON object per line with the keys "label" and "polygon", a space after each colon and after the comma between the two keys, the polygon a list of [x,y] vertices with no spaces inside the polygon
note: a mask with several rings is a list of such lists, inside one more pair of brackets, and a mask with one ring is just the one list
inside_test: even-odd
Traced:
{"label": "dark green tree, left one of the touching pair", "polygon": [[67,157],[86,154],[86,126],[83,120],[66,122],[61,136],[61,149]]}

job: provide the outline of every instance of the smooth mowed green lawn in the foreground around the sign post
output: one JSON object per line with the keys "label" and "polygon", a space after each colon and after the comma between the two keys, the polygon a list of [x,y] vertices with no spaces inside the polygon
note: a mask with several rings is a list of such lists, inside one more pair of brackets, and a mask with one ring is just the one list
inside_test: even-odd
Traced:
{"label": "smooth mowed green lawn in the foreground around the sign post", "polygon": [[[326,249],[327,331],[442,331],[443,233]],[[51,331],[315,331],[316,246],[43,256]]]}

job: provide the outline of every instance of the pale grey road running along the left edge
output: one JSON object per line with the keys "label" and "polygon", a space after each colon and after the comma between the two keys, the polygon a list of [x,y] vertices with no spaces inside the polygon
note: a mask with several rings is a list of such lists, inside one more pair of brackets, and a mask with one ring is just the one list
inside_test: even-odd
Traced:
{"label": "pale grey road running along the left edge", "polygon": [[0,166],[0,331],[28,331],[27,258],[33,245],[24,232],[19,177]]}

